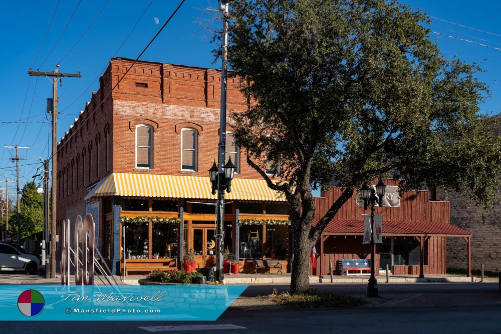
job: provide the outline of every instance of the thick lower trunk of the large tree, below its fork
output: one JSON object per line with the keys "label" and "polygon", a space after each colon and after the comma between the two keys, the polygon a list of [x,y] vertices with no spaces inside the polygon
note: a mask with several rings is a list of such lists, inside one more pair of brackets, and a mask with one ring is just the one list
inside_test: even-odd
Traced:
{"label": "thick lower trunk of the large tree, below its fork", "polygon": [[[301,227],[300,227],[301,228]],[[291,294],[307,293],[310,290],[310,254],[313,243],[308,231],[294,236],[294,261],[291,272]]]}

